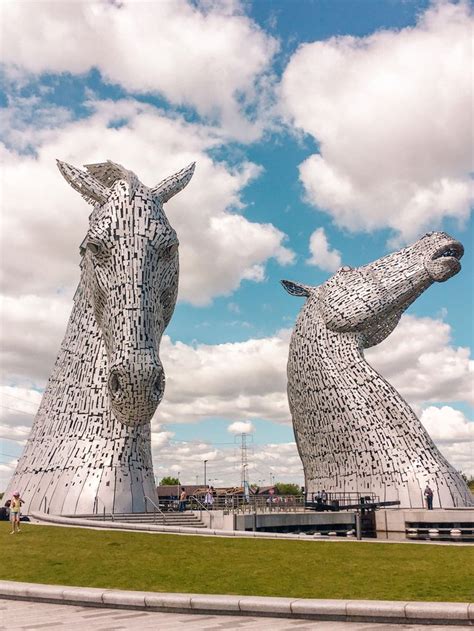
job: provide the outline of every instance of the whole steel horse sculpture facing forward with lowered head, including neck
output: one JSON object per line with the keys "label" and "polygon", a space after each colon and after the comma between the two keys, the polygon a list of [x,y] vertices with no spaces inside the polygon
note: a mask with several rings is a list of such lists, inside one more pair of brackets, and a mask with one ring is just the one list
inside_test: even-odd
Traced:
{"label": "whole steel horse sculpture facing forward with lowered head, including neck", "polygon": [[58,167],[94,209],[66,335],[7,495],[19,490],[27,510],[136,512],[155,497],[150,420],[178,292],[178,238],[163,204],[194,164],[155,188],[110,161]]}

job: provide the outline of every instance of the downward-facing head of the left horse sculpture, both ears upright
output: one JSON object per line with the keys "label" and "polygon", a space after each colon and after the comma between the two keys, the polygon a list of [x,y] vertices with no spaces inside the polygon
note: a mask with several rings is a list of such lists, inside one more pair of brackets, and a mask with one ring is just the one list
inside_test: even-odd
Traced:
{"label": "downward-facing head of the left horse sculpture, both ears upright", "polygon": [[178,293],[178,237],[163,204],[190,181],[194,163],[154,188],[110,161],[58,167],[94,207],[81,245],[83,289],[105,344],[112,412],[128,425],[147,423],[164,392],[159,345]]}

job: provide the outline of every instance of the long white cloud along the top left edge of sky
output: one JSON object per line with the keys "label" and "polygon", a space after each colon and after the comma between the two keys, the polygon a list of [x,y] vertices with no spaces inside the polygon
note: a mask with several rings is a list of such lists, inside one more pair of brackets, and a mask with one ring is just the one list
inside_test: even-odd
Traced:
{"label": "long white cloud along the top left edge of sky", "polygon": [[241,140],[261,132],[252,118],[266,105],[278,43],[237,0],[7,1],[1,9],[3,62],[16,79],[97,68],[105,81],[193,107]]}

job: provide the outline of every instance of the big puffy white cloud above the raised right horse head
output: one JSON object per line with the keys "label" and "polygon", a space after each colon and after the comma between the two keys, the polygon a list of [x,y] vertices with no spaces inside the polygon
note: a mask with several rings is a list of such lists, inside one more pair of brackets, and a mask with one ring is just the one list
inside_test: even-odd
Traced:
{"label": "big puffy white cloud above the raised right horse head", "polygon": [[303,44],[281,102],[320,155],[300,165],[307,199],[350,230],[411,239],[469,215],[472,14],[436,3],[416,27]]}

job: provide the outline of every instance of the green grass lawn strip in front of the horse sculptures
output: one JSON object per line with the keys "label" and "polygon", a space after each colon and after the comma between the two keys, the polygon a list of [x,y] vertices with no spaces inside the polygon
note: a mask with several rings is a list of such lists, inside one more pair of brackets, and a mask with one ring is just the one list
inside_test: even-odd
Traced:
{"label": "green grass lawn strip in front of the horse sculptures", "polygon": [[0,579],[146,591],[473,601],[474,548],[224,539],[0,522]]}

